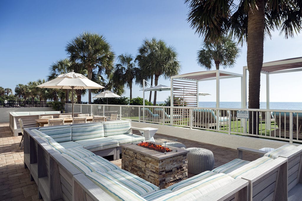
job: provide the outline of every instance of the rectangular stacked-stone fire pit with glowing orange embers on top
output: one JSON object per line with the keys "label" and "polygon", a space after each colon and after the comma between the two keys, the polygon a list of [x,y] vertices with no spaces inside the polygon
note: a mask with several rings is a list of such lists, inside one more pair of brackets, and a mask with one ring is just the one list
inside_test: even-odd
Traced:
{"label": "rectangular stacked-stone fire pit with glowing orange embers on top", "polygon": [[121,147],[122,169],[151,182],[160,189],[188,178],[188,151],[185,149],[167,146],[170,151],[162,153],[137,144],[124,144]]}

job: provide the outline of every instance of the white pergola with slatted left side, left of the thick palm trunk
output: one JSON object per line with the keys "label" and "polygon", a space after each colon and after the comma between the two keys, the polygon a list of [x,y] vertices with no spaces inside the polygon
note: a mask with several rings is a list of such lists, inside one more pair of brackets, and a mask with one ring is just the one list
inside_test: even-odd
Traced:
{"label": "white pergola with slatted left side, left of the thick palm trunk", "polygon": [[[243,91],[243,75],[236,74],[232,72],[226,72],[221,70],[214,70],[214,71],[201,71],[195,73],[188,73],[182,75],[176,75],[171,77],[171,106],[173,106],[173,95],[175,93],[179,93],[179,90],[173,90],[175,87],[181,87],[182,84],[184,87],[187,85],[191,85],[191,92],[196,92],[198,94],[198,82],[200,81],[208,81],[208,80],[216,80],[216,107],[219,108],[220,102],[220,80],[221,79],[228,79],[234,77],[241,77],[241,92]],[[178,80],[178,83],[175,84],[175,81]],[[191,84],[195,83],[196,86]],[[190,87],[190,86],[189,86]],[[178,92],[177,92],[178,91]],[[241,96],[243,93],[241,93]],[[185,97],[188,98],[188,97]],[[196,96],[197,106],[199,102],[198,96]],[[242,99],[242,106],[243,106],[243,99]]]}

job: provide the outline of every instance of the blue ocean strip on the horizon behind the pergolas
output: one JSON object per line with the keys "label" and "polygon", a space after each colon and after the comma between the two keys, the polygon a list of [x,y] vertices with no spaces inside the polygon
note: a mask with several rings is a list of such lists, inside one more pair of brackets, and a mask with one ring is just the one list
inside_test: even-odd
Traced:
{"label": "blue ocean strip on the horizon behind the pergolas", "polygon": [[[157,102],[165,103],[165,102]],[[199,102],[199,107],[215,108],[216,102]],[[241,102],[220,102],[220,108],[241,108]],[[270,102],[270,109],[302,110],[302,102]],[[266,102],[260,102],[260,109],[266,109]]]}

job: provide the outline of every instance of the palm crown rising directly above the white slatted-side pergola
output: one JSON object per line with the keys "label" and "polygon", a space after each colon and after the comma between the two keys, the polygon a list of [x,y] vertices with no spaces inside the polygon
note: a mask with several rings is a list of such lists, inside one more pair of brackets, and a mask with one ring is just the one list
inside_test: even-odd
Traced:
{"label": "palm crown rising directly above the white slatted-side pergola", "polygon": [[223,68],[232,68],[239,54],[240,50],[230,36],[223,36],[222,39],[215,42],[204,42],[203,48],[197,52],[197,62],[207,70],[212,69],[212,60],[216,70],[219,70],[220,64],[223,65]]}

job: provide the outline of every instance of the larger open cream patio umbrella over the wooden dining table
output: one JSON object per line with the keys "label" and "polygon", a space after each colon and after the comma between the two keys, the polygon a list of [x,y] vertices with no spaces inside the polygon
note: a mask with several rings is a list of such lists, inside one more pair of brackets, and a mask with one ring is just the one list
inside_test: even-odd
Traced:
{"label": "larger open cream patio umbrella over the wooden dining table", "polygon": [[72,89],[72,117],[73,117],[73,90],[74,89],[103,89],[104,86],[99,85],[82,74],[70,72],[61,74],[53,80],[38,85],[40,88],[53,89]]}

